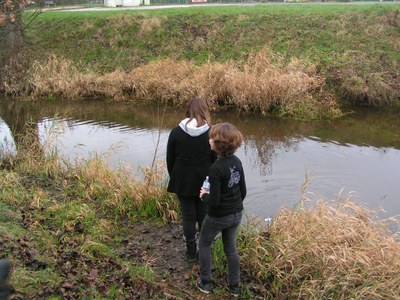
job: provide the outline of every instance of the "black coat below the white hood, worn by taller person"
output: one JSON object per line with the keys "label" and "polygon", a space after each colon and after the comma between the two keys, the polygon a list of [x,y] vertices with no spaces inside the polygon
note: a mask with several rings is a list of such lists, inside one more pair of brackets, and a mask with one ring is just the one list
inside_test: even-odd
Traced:
{"label": "black coat below the white hood, worn by taller person", "polygon": [[168,138],[167,169],[170,177],[168,192],[180,196],[198,196],[216,153],[211,150],[209,130],[192,137],[179,126]]}

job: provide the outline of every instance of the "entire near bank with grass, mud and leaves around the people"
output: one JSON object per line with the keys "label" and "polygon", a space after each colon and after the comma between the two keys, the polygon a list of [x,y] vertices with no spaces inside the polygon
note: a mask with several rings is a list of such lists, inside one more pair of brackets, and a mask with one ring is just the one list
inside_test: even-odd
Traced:
{"label": "entire near bank with grass, mud and leaves around the people", "polygon": [[[165,170],[144,168],[142,181],[108,169],[99,158],[62,164],[37,145],[20,137],[17,156],[0,160],[0,250],[15,265],[17,294],[201,299],[198,266],[184,261],[177,201],[166,192]],[[303,198],[272,223],[242,226],[241,295],[397,298],[400,243],[388,230],[396,222],[378,221],[348,199]],[[220,240],[213,259],[210,299],[229,299]]]}

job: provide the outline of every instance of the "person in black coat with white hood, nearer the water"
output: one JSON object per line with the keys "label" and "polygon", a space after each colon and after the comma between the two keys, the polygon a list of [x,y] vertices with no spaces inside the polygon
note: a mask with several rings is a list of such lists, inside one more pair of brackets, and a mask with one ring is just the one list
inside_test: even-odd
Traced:
{"label": "person in black coat with white hood, nearer the water", "polygon": [[168,192],[178,196],[186,240],[186,257],[190,262],[195,262],[196,223],[200,231],[207,210],[199,198],[199,189],[216,159],[216,154],[208,142],[211,117],[207,103],[200,98],[189,100],[185,117],[168,138]]}

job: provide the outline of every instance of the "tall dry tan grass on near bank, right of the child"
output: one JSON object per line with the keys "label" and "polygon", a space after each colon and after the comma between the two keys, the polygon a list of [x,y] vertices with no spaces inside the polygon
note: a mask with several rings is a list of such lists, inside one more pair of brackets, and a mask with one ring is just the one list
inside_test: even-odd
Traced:
{"label": "tall dry tan grass on near bank, right of the child", "polygon": [[350,200],[282,209],[268,235],[242,238],[244,269],[277,299],[398,299],[399,220],[375,217]]}

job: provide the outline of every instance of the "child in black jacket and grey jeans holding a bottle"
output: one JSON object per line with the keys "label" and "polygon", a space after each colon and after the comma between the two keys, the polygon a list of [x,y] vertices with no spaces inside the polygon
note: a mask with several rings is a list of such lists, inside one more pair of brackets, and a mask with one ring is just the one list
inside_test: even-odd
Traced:
{"label": "child in black jacket and grey jeans holding a bottle", "polygon": [[234,155],[243,142],[242,134],[230,123],[219,123],[210,130],[209,143],[218,158],[209,170],[210,190],[200,189],[200,198],[208,204],[199,240],[200,281],[198,288],[211,293],[211,245],[222,233],[228,261],[228,289],[239,296],[240,263],[237,253],[237,229],[242,219],[246,183],[240,159]]}

